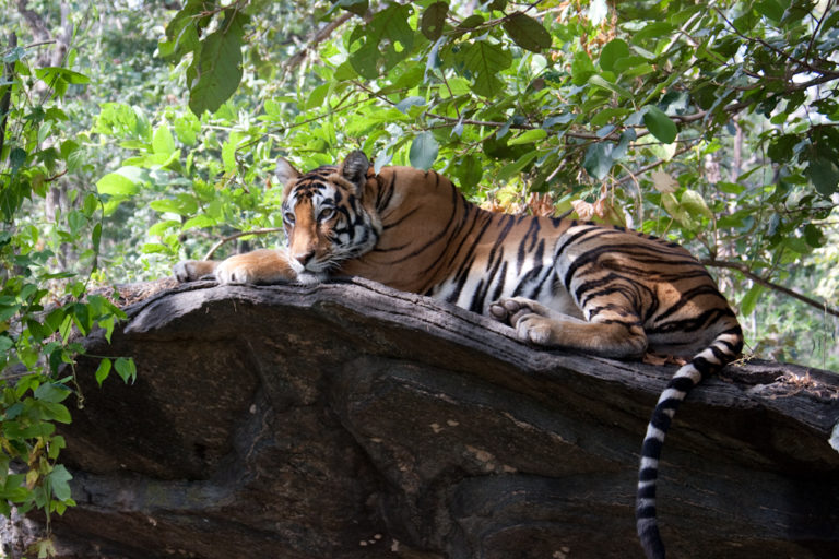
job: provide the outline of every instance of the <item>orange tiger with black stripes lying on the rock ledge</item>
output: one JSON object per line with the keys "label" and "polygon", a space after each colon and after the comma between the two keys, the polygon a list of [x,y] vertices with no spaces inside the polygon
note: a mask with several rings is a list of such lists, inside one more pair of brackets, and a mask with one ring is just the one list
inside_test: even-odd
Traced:
{"label": "orange tiger with black stripes lying on the rock ledge", "polygon": [[640,452],[636,524],[664,557],[659,460],[678,405],[736,359],[743,332],[708,271],[675,242],[618,226],[488,212],[434,170],[383,167],[361,151],[297,171],[280,158],[286,246],[184,261],[179,282],[317,284],[361,276],[484,313],[541,348],[686,359],[661,392]]}

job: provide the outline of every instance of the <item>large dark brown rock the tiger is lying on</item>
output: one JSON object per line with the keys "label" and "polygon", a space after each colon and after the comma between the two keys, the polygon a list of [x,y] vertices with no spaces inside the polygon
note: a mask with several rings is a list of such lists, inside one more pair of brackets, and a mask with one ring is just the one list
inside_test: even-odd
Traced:
{"label": "large dark brown rock the tiger is lying on", "polygon": [[[201,282],[127,312],[85,343],[135,384],[78,367],[63,558],[641,557],[638,452],[673,367],[537,350],[361,280]],[[838,394],[769,362],[697,389],[664,448],[670,556],[839,557]],[[37,520],[7,523],[12,557]]]}

